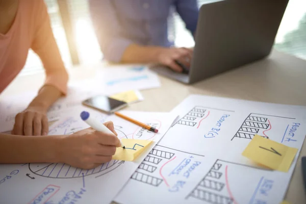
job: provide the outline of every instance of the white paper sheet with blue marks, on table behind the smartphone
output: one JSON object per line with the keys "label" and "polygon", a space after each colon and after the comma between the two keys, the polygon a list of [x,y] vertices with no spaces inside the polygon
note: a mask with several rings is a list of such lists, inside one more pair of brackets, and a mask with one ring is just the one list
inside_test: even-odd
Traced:
{"label": "white paper sheet with blue marks, on table behind the smartphone", "polygon": [[[146,66],[112,66],[97,72],[94,87],[105,94],[160,87],[158,75]],[[93,87],[93,88],[94,88]]]}

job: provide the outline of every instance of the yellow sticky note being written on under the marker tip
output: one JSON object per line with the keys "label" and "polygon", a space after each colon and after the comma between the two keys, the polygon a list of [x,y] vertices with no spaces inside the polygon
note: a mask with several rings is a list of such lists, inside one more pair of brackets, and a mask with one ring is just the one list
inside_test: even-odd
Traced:
{"label": "yellow sticky note being written on under the marker tip", "polygon": [[151,141],[122,139],[121,143],[125,146],[125,149],[123,149],[122,147],[117,147],[113,159],[122,161],[134,161],[141,154],[141,152],[151,143]]}

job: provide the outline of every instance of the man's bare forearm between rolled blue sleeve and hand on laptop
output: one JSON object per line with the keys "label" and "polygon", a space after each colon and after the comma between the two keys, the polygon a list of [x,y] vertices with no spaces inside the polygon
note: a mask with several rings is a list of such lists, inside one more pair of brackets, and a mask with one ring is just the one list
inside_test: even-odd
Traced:
{"label": "man's bare forearm between rolled blue sleeve and hand on laptop", "polygon": [[165,47],[129,45],[121,58],[122,63],[158,63],[159,56]]}

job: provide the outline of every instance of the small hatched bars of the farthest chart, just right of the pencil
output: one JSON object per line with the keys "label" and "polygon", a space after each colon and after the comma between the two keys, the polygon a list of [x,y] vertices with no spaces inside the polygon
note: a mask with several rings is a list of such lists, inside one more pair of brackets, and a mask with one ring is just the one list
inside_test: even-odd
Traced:
{"label": "small hatched bars of the farthest chart, just right of the pencil", "polygon": [[176,122],[176,124],[195,126],[202,119],[208,117],[209,111],[206,108],[196,106],[191,111],[189,111],[183,118]]}

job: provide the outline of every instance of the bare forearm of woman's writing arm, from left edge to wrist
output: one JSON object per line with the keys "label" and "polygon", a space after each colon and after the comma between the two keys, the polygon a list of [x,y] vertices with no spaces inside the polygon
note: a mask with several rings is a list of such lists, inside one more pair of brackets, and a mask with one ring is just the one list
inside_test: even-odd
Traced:
{"label": "bare forearm of woman's writing arm, from left edge to wrist", "polygon": [[61,136],[0,134],[0,163],[57,163]]}

